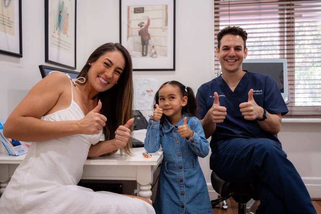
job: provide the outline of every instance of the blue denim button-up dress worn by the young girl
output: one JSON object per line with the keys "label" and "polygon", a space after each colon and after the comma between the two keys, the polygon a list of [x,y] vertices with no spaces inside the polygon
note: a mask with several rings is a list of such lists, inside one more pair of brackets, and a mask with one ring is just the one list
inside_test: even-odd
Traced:
{"label": "blue denim button-up dress worn by the young girl", "polygon": [[187,115],[183,115],[175,126],[166,117],[163,126],[160,120],[148,121],[146,151],[156,152],[161,146],[164,152],[154,203],[157,214],[213,213],[198,163],[198,156],[208,155],[209,143],[196,117],[187,117],[187,125],[194,131],[193,137],[186,139],[179,135],[178,126],[183,125],[184,117]]}

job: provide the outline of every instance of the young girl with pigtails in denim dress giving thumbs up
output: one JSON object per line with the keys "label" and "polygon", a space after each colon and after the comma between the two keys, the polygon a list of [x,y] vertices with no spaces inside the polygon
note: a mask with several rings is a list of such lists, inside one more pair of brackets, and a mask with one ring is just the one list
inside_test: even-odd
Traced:
{"label": "young girl with pigtails in denim dress giving thumbs up", "polygon": [[166,82],[155,94],[154,109],[144,147],[147,152],[156,152],[160,146],[164,151],[156,213],[213,213],[197,158],[207,156],[209,143],[195,117],[193,90],[177,81]]}

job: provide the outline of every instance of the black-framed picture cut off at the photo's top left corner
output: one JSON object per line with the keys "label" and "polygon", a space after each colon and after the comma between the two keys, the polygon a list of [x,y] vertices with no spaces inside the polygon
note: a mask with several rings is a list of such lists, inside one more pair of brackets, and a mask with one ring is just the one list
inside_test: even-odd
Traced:
{"label": "black-framed picture cut off at the photo's top left corner", "polygon": [[21,0],[0,1],[0,53],[22,57]]}

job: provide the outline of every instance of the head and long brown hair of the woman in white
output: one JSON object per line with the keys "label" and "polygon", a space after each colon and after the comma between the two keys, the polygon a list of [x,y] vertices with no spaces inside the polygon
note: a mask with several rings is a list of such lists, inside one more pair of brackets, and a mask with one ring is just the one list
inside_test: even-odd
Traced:
{"label": "head and long brown hair of the woman in white", "polygon": [[[118,43],[97,48],[88,58],[78,77],[86,79],[82,86],[98,93],[101,114],[108,120],[103,128],[105,140],[115,138],[118,126],[132,118],[133,80],[132,61],[128,51]],[[114,154],[117,150],[108,152]],[[130,154],[130,143],[120,150]],[[103,154],[99,154],[103,155]]]}

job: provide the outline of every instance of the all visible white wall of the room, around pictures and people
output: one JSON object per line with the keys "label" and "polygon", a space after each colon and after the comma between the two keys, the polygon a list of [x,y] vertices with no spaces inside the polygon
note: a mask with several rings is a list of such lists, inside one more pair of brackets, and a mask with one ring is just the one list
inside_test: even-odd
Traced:
{"label": "all visible white wall of the room, around pictures and people", "polygon": [[[40,79],[38,65],[46,64],[44,1],[22,2],[23,58],[0,54],[0,118],[6,119],[13,108]],[[30,4],[31,3],[31,4]],[[135,78],[154,77],[158,86],[178,80],[197,88],[212,78],[213,1],[176,1],[176,71],[135,71]],[[89,54],[106,42],[119,42],[119,2],[115,0],[77,1],[77,71]],[[50,64],[47,64],[50,65]],[[55,66],[55,65],[51,65]],[[56,67],[56,66],[55,66]],[[142,111],[146,118],[152,111]],[[320,123],[283,123],[279,138],[288,158],[307,184],[311,197],[321,198]],[[1,148],[0,151],[4,151]],[[200,158],[208,188],[211,188],[209,156]],[[211,198],[215,197],[211,192]]]}

